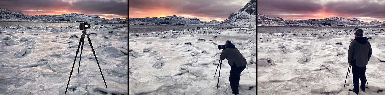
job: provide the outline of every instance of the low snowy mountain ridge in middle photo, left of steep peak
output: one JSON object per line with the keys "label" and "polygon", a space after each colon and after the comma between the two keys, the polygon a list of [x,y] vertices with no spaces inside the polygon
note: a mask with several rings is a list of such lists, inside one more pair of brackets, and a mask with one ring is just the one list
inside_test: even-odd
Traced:
{"label": "low snowy mountain ridge in middle photo, left of steep peak", "polygon": [[187,19],[182,16],[166,16],[153,18],[129,18],[128,24],[134,25],[182,25],[182,24],[208,24],[206,21]]}

